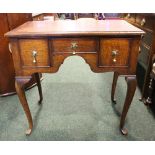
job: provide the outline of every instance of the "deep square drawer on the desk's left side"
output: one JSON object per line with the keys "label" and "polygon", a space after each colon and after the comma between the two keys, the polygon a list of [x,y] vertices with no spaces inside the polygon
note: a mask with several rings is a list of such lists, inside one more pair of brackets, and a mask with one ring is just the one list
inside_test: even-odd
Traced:
{"label": "deep square drawer on the desk's left side", "polygon": [[20,39],[19,48],[23,67],[50,66],[47,39]]}

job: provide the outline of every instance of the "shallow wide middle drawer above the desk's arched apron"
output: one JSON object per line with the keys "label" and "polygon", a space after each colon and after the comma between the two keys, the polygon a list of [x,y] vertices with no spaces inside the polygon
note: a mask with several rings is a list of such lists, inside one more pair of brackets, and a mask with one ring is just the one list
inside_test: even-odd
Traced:
{"label": "shallow wide middle drawer above the desk's arched apron", "polygon": [[57,38],[52,40],[54,53],[96,53],[98,41],[95,38]]}

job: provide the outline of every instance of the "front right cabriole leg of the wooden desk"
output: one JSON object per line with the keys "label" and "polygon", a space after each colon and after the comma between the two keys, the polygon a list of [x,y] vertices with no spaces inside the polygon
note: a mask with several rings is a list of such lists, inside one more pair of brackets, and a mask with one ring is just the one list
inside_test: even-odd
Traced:
{"label": "front right cabriole leg of the wooden desk", "polygon": [[127,135],[128,133],[127,129],[124,128],[124,123],[125,123],[125,118],[129,110],[129,107],[131,105],[133,96],[135,94],[136,85],[137,85],[136,75],[126,76],[125,79],[127,82],[127,93],[126,93],[126,98],[125,98],[124,107],[121,115],[121,121],[120,121],[120,130],[123,135]]}

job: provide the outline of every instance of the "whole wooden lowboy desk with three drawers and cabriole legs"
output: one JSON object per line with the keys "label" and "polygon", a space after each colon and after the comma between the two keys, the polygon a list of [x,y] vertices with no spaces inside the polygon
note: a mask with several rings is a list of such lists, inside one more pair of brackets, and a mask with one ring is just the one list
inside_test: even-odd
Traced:
{"label": "whole wooden lowboy desk with three drawers and cabriole legs", "polygon": [[136,89],[136,64],[139,43],[144,31],[124,20],[59,20],[30,21],[8,32],[16,77],[15,86],[20,103],[28,119],[30,134],[33,128],[31,112],[24,92],[24,84],[35,75],[43,96],[38,73],[55,73],[66,57],[81,56],[96,73],[114,72],[111,99],[119,75],[125,76],[127,93],[121,114],[120,130]]}

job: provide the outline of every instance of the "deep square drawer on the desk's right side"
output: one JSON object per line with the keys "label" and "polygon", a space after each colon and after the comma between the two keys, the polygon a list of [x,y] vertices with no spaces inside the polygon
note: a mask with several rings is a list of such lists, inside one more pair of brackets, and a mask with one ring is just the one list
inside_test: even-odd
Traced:
{"label": "deep square drawer on the desk's right side", "polygon": [[128,66],[129,39],[101,39],[99,66]]}

